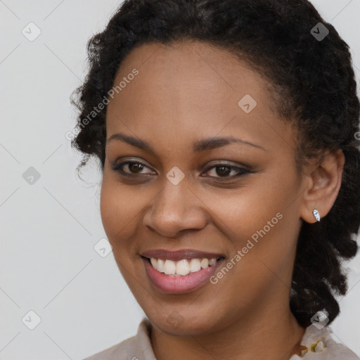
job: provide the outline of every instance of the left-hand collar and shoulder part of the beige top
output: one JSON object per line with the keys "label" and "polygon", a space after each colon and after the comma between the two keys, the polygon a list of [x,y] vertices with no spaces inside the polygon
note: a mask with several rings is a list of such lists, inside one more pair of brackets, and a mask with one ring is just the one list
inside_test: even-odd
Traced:
{"label": "left-hand collar and shoulder part of the beige top", "polygon": [[149,326],[149,321],[143,319],[136,335],[83,360],[155,360],[149,338]]}

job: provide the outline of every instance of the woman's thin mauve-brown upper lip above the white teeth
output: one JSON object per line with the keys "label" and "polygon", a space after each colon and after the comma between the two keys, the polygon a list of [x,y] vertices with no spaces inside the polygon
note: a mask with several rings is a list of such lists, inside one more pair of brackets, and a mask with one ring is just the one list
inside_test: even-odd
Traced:
{"label": "woman's thin mauve-brown upper lip above the white teeth", "polygon": [[218,259],[219,257],[224,257],[219,252],[206,252],[193,249],[183,249],[183,250],[165,250],[165,249],[154,249],[147,250],[140,254],[143,257],[153,257],[155,259],[169,259],[173,261],[179,261],[182,259]]}

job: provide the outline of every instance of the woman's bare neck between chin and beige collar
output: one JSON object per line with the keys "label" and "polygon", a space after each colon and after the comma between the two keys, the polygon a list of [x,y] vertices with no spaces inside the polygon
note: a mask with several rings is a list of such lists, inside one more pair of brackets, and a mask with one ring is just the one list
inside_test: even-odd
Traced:
{"label": "woman's bare neck between chin and beige collar", "polygon": [[305,329],[288,307],[252,311],[226,328],[207,335],[176,336],[151,327],[150,338],[157,360],[281,359],[299,354]]}

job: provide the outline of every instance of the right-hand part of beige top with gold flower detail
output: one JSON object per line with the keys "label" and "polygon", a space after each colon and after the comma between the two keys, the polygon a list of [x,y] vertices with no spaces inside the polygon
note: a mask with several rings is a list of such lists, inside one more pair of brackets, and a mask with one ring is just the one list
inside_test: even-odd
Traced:
{"label": "right-hand part of beige top with gold flower detail", "polygon": [[309,326],[302,338],[301,345],[305,347],[302,356],[293,356],[290,360],[360,360],[352,350],[345,345],[335,342],[330,329]]}

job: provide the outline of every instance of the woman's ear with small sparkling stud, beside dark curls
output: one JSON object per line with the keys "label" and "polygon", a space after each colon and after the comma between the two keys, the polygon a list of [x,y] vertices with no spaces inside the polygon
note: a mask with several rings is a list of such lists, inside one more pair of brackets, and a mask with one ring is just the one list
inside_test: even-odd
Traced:
{"label": "woman's ear with small sparkling stud, beside dark curls", "polygon": [[321,158],[309,163],[304,171],[305,189],[302,193],[300,217],[312,224],[316,222],[313,210],[325,217],[338,196],[345,155],[341,149],[328,150]]}

